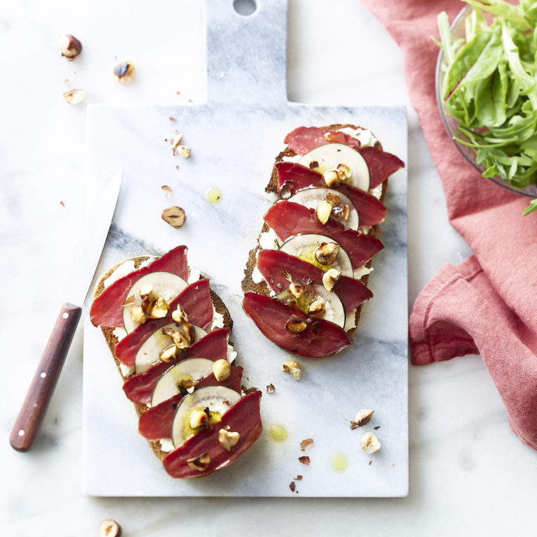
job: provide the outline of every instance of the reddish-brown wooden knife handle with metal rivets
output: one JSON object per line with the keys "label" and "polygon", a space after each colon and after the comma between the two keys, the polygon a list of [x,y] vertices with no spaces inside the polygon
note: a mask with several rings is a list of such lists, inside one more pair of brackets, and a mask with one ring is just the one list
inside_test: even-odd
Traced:
{"label": "reddish-brown wooden knife handle with metal rivets", "polygon": [[73,304],[65,303],[62,306],[37,366],[34,380],[31,381],[26,399],[11,431],[9,441],[14,450],[28,451],[34,445],[59,373],[64,366],[80,313],[82,309]]}

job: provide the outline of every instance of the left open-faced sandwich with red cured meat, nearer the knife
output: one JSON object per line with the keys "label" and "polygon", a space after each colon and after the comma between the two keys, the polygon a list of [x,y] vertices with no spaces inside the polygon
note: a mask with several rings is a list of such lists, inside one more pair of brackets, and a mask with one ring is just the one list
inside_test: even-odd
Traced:
{"label": "left open-faced sandwich with red cured meat, nearer the knife", "polygon": [[90,317],[101,327],[138,431],[173,478],[199,478],[240,457],[262,432],[261,392],[242,389],[231,317],[187,248],[136,257],[99,280]]}

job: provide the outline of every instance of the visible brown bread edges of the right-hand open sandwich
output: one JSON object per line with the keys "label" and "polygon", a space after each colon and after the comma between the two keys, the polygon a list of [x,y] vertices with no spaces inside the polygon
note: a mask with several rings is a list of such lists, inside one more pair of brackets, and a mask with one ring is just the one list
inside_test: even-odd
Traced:
{"label": "visible brown bread edges of the right-hand open sandwich", "polygon": [[[364,129],[364,127],[359,127],[357,125],[353,125],[350,123],[345,123],[345,124],[334,123],[334,124],[326,125],[324,127],[319,127],[319,128],[322,129],[323,131],[331,131],[331,130],[337,130],[337,129],[345,129],[346,127],[349,127],[350,129]],[[382,150],[382,145],[379,141],[375,143],[375,148]],[[275,158],[274,165],[271,171],[271,178],[270,180],[268,180],[268,183],[265,187],[265,192],[267,194],[275,194],[276,196],[278,196],[278,199],[275,200],[275,202],[282,199],[279,193],[279,189],[278,189],[278,170],[276,169],[275,165],[278,162],[282,162],[283,157],[295,157],[295,156],[296,156],[296,153],[293,150],[286,147]],[[382,194],[380,195],[380,201],[382,201],[382,203],[384,203],[384,199],[386,196],[387,185],[388,185],[388,180],[385,180],[382,183]],[[259,235],[257,236],[257,245],[255,245],[254,248],[252,248],[252,250],[248,252],[248,262],[246,263],[246,267],[244,269],[244,278],[241,282],[241,288],[243,290],[243,293],[252,291],[252,292],[264,294],[266,296],[270,295],[271,289],[269,289],[266,282],[256,283],[252,279],[252,273],[254,271],[255,266],[257,265],[257,253],[259,252],[259,250],[261,250],[261,247],[259,246],[259,238],[261,237],[261,234],[266,231],[268,231],[268,224],[264,222],[263,227],[261,231],[259,231]],[[378,225],[375,225],[371,227],[371,229],[369,230],[369,234],[373,236],[379,236],[380,234],[382,234],[382,231],[380,230],[380,227]],[[366,263],[366,267],[371,268],[371,260]],[[360,281],[364,285],[367,285],[369,281],[369,275],[366,274],[362,276],[362,278],[360,278]],[[347,331],[347,334],[349,334],[349,336],[351,336],[354,333],[354,331],[356,330],[358,326],[358,322],[360,320],[360,314],[361,314],[361,306],[362,305],[358,306],[356,309],[355,327]]]}

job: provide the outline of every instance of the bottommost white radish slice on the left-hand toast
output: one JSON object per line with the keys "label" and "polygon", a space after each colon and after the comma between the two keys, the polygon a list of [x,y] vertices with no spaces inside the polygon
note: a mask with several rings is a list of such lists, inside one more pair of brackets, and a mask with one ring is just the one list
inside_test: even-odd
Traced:
{"label": "bottommost white radish slice on the left-hand toast", "polygon": [[197,429],[190,427],[190,417],[194,411],[208,408],[209,423],[218,422],[239,399],[241,399],[240,394],[224,386],[206,386],[185,396],[177,407],[171,425],[173,445],[179,447],[196,434]]}

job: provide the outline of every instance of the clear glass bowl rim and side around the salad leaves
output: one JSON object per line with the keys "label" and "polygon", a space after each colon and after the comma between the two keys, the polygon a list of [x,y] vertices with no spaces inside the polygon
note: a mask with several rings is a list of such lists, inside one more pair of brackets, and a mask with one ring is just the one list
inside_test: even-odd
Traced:
{"label": "clear glass bowl rim and side around the salad leaves", "polygon": [[[465,37],[465,20],[466,17],[471,14],[472,9],[472,6],[466,6],[462,8],[457,17],[455,17],[450,27],[452,42],[457,38]],[[479,173],[483,173],[485,171],[485,166],[476,162],[475,149],[468,147],[468,145],[464,145],[455,139],[464,139],[465,136],[461,133],[461,131],[459,131],[459,123],[457,122],[457,120],[455,120],[454,117],[452,115],[449,115],[445,110],[444,102],[441,96],[441,88],[443,87],[443,80],[445,76],[445,69],[442,69],[443,64],[445,64],[445,59],[443,55],[443,50],[440,50],[440,52],[438,53],[438,59],[436,60],[436,102],[438,103],[438,108],[440,109],[440,114],[445,130],[447,131],[447,134],[450,136],[451,141],[454,143],[455,147],[459,150],[461,155]],[[503,178],[501,178],[501,176],[499,175],[487,179],[496,183],[496,185],[500,185],[501,187],[510,190],[511,192],[516,192],[517,194],[522,194],[523,196],[529,196],[531,198],[537,198],[537,185],[528,185],[527,187],[517,188],[511,185],[509,182],[503,180]]]}

